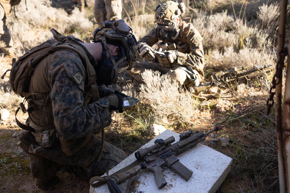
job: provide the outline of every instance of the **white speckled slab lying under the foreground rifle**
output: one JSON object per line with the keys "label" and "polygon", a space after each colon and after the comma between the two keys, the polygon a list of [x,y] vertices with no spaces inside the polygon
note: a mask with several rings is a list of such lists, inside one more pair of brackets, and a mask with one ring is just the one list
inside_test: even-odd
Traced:
{"label": "white speckled slab lying under the foreground rifle", "polygon": [[[175,137],[174,143],[179,141],[179,134],[167,129],[141,148],[154,145],[154,141],[156,139],[166,139],[170,136]],[[135,161],[136,158],[134,153],[109,170],[109,175]],[[232,163],[232,159],[230,157],[202,144],[197,144],[193,148],[177,155],[177,158],[180,159],[179,161],[184,166],[193,171],[193,174],[188,181],[182,179],[172,170],[167,169],[163,172],[167,185],[163,189],[159,190],[155,183],[154,173],[143,170],[140,173],[140,179],[132,183],[132,186],[135,187],[136,192],[214,193],[226,178],[231,169]],[[90,193],[106,192],[109,193],[106,184],[98,188],[90,187]]]}

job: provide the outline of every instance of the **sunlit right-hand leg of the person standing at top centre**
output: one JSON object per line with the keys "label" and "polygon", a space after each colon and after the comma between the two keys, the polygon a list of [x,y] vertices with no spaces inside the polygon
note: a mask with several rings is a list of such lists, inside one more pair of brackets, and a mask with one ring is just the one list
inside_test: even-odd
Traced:
{"label": "sunlit right-hand leg of the person standing at top centre", "polygon": [[105,0],[105,4],[108,20],[122,19],[122,0]]}

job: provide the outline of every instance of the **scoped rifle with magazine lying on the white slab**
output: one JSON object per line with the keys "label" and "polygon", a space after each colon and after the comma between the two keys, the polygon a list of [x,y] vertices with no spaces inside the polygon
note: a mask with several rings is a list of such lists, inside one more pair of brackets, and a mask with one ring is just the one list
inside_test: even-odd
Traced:
{"label": "scoped rifle with magazine lying on the white slab", "polygon": [[[126,170],[124,172],[123,170],[125,168],[110,176],[107,173],[107,176],[104,177],[93,177],[90,179],[90,184],[92,187],[98,187],[107,183],[111,193],[128,193],[131,183],[140,178],[139,172],[142,170],[151,170],[154,172],[157,188],[162,189],[167,184],[162,172],[168,168],[173,170],[185,181],[188,181],[193,171],[186,168],[186,166],[184,166],[175,156],[196,146],[198,143],[204,141],[207,135],[221,128],[222,126],[217,126],[206,133],[188,130],[179,135],[180,140],[175,144],[171,144],[175,141],[173,136],[164,140],[156,139],[154,145],[135,152],[137,161],[129,166],[134,165],[134,163],[137,164],[136,166],[131,169],[125,167]],[[99,181],[98,185],[94,185],[95,181]]]}

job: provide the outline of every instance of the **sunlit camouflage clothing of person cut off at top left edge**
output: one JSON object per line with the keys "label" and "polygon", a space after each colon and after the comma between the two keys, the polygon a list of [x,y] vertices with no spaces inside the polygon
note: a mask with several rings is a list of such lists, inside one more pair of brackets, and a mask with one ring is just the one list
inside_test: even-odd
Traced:
{"label": "sunlit camouflage clothing of person cut off at top left edge", "polygon": [[4,54],[14,57],[14,42],[6,26],[6,17],[10,17],[11,7],[21,0],[0,0],[0,49]]}

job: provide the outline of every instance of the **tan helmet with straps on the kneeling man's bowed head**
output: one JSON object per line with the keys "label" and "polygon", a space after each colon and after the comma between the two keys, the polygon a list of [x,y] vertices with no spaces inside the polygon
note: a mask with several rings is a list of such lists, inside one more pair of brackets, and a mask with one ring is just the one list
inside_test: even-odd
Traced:
{"label": "tan helmet with straps on the kneeling man's bowed head", "polygon": [[[107,42],[114,42],[113,45],[117,42],[121,43],[124,47],[124,50],[122,50],[122,57],[124,59],[123,62],[128,62],[128,67],[125,69],[130,70],[137,58],[137,40],[133,35],[131,27],[129,27],[123,19],[119,19],[117,21],[103,21],[98,24],[99,27],[97,27],[97,29],[93,32],[94,42],[102,42],[105,44],[105,49],[108,51],[113,63],[115,63],[115,60],[110,52],[110,49],[108,49]],[[118,63],[121,63],[121,61],[118,61]],[[125,69],[119,68],[118,71],[120,72]]]}

